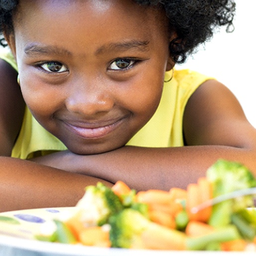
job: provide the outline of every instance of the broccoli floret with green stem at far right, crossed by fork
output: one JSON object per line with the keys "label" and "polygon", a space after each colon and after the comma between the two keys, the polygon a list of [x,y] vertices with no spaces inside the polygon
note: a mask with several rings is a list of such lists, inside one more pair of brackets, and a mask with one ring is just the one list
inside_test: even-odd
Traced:
{"label": "broccoli floret with green stem at far right, crossed by fork", "polygon": [[[256,186],[256,179],[251,171],[240,163],[218,160],[206,172],[207,178],[213,184],[213,196],[227,194],[236,190]],[[209,224],[223,226],[231,222],[231,214],[253,206],[252,195],[226,200],[213,206]]]}

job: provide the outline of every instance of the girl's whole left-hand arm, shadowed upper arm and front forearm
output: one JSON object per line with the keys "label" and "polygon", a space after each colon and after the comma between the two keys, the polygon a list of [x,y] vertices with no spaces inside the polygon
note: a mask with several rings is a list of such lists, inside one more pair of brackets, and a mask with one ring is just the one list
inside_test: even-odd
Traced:
{"label": "girl's whole left-hand arm, shadowed upper arm and front forearm", "polygon": [[0,211],[74,206],[86,185],[102,181],[111,186],[99,178],[10,157],[25,106],[16,77],[0,60]]}

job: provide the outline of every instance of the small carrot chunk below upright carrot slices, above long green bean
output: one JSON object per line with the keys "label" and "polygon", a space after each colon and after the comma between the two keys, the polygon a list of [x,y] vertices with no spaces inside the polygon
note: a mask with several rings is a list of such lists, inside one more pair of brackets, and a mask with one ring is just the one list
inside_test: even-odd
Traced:
{"label": "small carrot chunk below upright carrot slices, above long green bean", "polygon": [[189,237],[197,237],[202,235],[207,235],[214,232],[214,227],[200,221],[189,221],[185,234]]}

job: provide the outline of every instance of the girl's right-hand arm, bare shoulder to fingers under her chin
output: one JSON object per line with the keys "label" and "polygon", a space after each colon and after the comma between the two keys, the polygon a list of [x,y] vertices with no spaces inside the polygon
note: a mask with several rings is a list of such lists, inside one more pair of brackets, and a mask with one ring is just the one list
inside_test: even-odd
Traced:
{"label": "girl's right-hand arm, bare shoulder to fingers under her chin", "polygon": [[120,179],[138,190],[186,187],[219,158],[242,162],[256,175],[256,129],[224,85],[211,80],[195,91],[187,103],[183,127],[186,147],[126,146],[89,156],[67,151],[36,161],[113,183]]}

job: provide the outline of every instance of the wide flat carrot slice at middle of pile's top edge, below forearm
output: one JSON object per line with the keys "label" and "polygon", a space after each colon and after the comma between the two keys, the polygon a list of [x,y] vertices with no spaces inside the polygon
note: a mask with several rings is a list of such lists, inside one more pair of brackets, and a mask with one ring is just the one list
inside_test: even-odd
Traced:
{"label": "wide flat carrot slice at middle of pile's top edge, below forearm", "polygon": [[171,195],[168,191],[149,189],[137,193],[137,201],[141,203],[158,203],[170,204],[172,202]]}

